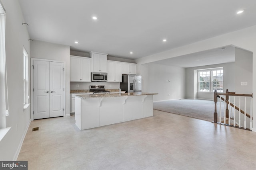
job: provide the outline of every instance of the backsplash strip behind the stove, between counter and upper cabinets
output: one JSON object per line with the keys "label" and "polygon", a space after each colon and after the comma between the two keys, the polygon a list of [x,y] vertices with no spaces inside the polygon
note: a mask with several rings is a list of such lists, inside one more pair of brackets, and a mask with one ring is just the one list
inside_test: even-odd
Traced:
{"label": "backsplash strip behind the stove, between counter and upper cabinets", "polygon": [[[78,87],[77,87],[78,85]],[[70,82],[70,90],[89,90],[90,85],[104,85],[105,89],[118,89],[120,83],[108,82]]]}

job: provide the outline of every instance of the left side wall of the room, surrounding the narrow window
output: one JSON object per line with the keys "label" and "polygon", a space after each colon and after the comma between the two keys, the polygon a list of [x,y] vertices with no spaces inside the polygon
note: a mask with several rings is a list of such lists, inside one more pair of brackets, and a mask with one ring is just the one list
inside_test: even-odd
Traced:
{"label": "left side wall of the room, surrounding the narrow window", "polygon": [[[16,160],[30,123],[30,107],[23,110],[23,46],[30,58],[30,39],[18,0],[1,0],[6,9],[6,68],[10,131],[0,141],[0,160]],[[29,63],[30,64],[30,63]],[[30,71],[30,70],[29,70]]]}

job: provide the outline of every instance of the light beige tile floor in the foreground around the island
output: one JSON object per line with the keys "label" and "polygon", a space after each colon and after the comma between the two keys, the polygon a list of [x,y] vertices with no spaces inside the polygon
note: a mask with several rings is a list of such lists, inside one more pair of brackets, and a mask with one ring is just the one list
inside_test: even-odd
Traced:
{"label": "light beige tile floor in the foreground around the island", "polygon": [[56,117],[31,122],[18,160],[29,170],[252,170],[256,133],[157,110],[82,131]]}

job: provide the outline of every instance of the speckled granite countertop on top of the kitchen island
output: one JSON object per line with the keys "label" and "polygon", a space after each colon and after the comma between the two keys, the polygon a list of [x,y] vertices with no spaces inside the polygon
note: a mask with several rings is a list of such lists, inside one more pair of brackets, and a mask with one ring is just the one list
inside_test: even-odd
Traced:
{"label": "speckled granite countertop on top of the kitchen island", "polygon": [[89,98],[113,98],[113,97],[124,97],[124,96],[142,96],[142,95],[154,95],[158,93],[121,93],[121,94],[77,94],[78,98],[89,99]]}

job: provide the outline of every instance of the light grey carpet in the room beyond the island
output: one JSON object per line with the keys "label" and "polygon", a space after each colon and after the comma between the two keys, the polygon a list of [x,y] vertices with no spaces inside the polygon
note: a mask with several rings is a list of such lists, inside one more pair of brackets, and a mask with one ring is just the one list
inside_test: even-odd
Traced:
{"label": "light grey carpet in the room beyond the island", "polygon": [[[217,102],[217,113],[219,112],[219,103],[220,102]],[[224,113],[223,106],[224,105],[222,105],[222,114]],[[214,102],[211,100],[198,99],[166,100],[154,102],[154,109],[206,121],[213,121]]]}

